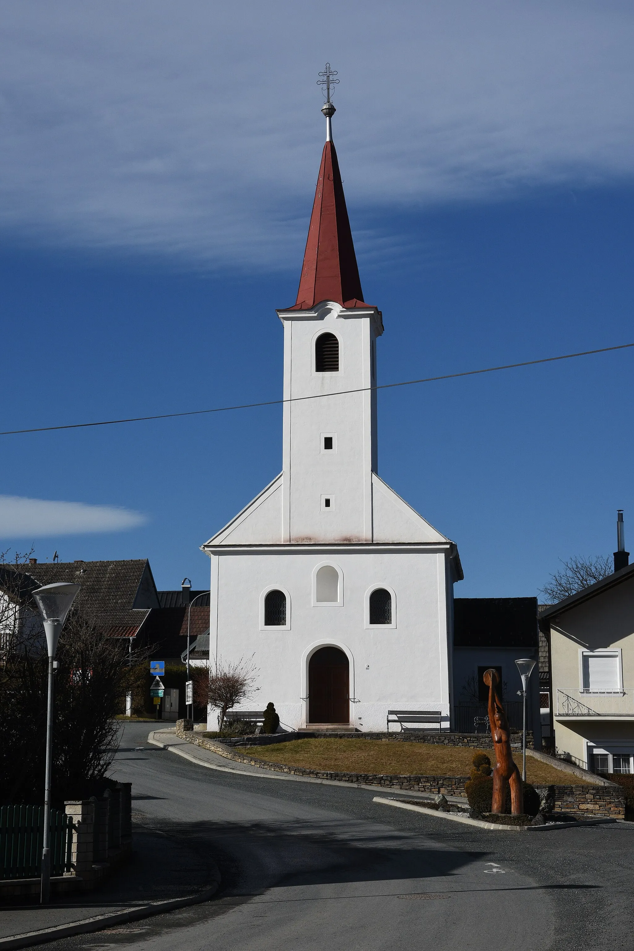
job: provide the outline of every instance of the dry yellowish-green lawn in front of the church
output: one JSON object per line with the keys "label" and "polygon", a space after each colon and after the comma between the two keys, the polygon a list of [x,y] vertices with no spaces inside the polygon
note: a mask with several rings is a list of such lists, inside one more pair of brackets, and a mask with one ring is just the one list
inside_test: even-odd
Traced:
{"label": "dry yellowish-green lawn in front of the church", "polygon": [[[469,776],[471,760],[484,752],[495,765],[492,749],[440,747],[433,743],[394,743],[387,740],[293,740],[271,747],[249,747],[249,756],[307,769],[332,769],[338,772],[382,773],[396,776]],[[522,754],[514,753],[522,768]],[[565,786],[585,785],[578,776],[551,767],[527,756],[529,783]]]}

